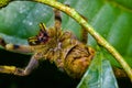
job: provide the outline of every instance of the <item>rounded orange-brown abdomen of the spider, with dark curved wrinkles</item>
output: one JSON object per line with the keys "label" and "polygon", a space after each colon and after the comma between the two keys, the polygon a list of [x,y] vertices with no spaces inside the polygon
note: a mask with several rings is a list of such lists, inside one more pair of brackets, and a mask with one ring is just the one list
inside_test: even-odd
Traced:
{"label": "rounded orange-brown abdomen of the spider, with dark curved wrinkles", "polygon": [[65,58],[66,73],[74,78],[80,78],[91,63],[94,55],[95,51],[92,48],[81,46],[81,44],[76,45]]}

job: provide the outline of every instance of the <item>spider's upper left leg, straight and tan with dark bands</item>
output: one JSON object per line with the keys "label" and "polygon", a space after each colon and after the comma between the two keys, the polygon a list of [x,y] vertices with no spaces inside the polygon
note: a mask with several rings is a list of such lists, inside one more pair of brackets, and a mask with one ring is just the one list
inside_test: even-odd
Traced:
{"label": "spider's upper left leg, straight and tan with dark bands", "polygon": [[32,53],[31,46],[28,45],[16,45],[11,43],[6,43],[3,38],[0,37],[0,46],[7,51],[19,52],[19,53]]}

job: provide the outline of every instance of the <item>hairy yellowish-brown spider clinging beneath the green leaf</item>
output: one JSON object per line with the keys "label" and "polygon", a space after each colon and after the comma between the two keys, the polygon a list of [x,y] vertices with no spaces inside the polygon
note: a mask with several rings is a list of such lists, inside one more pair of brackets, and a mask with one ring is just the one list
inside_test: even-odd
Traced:
{"label": "hairy yellowish-brown spider clinging beneath the green leaf", "polygon": [[95,56],[95,50],[86,45],[88,33],[81,28],[84,37],[81,41],[77,40],[72,32],[62,30],[59,10],[54,9],[54,26],[47,29],[44,23],[40,23],[40,32],[28,38],[29,45],[6,43],[0,38],[0,45],[7,51],[33,54],[25,68],[1,65],[0,73],[26,76],[37,67],[40,59],[44,59],[54,63],[73,78],[84,75]]}

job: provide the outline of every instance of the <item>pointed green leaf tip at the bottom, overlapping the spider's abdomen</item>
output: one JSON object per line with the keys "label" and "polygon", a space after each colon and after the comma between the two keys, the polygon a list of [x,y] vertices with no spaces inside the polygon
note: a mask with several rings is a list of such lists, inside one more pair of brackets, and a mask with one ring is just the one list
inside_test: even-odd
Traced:
{"label": "pointed green leaf tip at the bottom, overlapping the spider's abdomen", "polygon": [[98,52],[77,88],[118,88],[111,65]]}

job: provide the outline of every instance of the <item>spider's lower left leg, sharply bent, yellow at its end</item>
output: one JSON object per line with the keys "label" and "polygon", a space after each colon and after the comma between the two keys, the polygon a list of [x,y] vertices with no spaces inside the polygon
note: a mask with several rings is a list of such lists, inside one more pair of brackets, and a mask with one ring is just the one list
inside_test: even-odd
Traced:
{"label": "spider's lower left leg, sharply bent, yellow at its end", "polygon": [[38,58],[37,55],[33,55],[25,68],[19,68],[15,66],[0,66],[0,73],[13,74],[19,76],[29,75],[38,65],[37,58]]}

